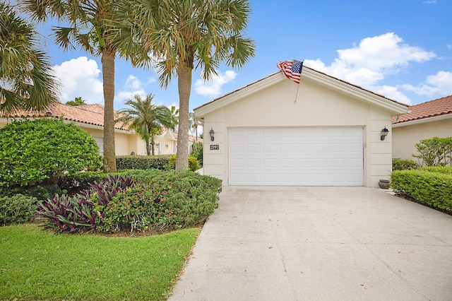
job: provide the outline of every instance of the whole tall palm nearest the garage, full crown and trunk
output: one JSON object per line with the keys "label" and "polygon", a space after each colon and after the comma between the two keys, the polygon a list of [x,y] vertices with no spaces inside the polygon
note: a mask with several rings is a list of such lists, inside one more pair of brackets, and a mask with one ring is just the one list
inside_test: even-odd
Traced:
{"label": "whole tall palm nearest the garage, full crown and trunk", "polygon": [[[136,28],[131,31],[132,35],[156,59],[160,85],[167,88],[172,77],[177,76],[176,170],[183,170],[188,165],[189,155],[192,71],[200,68],[203,79],[209,80],[217,73],[222,61],[228,66],[242,67],[254,57],[254,41],[242,36],[250,13],[248,1],[123,0],[118,11],[119,23],[133,23]],[[136,64],[140,66],[139,61]],[[146,61],[141,66],[147,64]]]}

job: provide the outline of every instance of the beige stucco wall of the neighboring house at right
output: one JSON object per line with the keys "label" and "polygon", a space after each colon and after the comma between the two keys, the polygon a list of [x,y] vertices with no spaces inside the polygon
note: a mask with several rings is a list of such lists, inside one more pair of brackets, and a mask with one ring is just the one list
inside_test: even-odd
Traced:
{"label": "beige stucco wall of the neighboring house at right", "polygon": [[393,158],[415,160],[416,143],[433,137],[452,137],[452,117],[419,124],[395,124],[393,127]]}

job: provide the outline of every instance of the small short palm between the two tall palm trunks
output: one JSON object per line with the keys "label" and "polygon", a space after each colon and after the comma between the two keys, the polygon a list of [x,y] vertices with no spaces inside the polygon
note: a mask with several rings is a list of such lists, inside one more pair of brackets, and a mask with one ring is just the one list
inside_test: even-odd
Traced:
{"label": "small short palm between the two tall palm trunks", "polygon": [[119,117],[115,122],[128,124],[130,129],[135,129],[141,138],[146,141],[148,155],[151,154],[150,146],[152,146],[152,155],[154,155],[154,137],[161,134],[162,127],[174,129],[177,119],[165,105],[153,105],[154,95],[152,94],[148,94],[145,100],[138,94],[134,95],[133,98],[134,100],[126,101],[126,105],[131,108],[119,110]]}

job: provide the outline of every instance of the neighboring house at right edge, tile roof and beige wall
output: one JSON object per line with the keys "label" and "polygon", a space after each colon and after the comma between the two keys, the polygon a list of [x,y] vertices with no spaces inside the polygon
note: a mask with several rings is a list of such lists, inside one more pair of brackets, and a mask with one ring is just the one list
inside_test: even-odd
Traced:
{"label": "neighboring house at right edge, tile roof and beige wall", "polygon": [[414,159],[416,143],[433,137],[452,137],[452,95],[408,107],[393,123],[393,157]]}

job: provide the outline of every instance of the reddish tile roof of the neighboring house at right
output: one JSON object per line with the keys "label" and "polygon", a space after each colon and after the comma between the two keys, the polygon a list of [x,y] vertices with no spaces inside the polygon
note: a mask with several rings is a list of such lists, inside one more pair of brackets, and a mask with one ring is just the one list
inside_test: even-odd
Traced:
{"label": "reddish tile roof of the neighboring house at right", "polygon": [[408,107],[408,109],[411,110],[411,113],[403,114],[398,122],[395,122],[394,124],[452,114],[452,95],[446,96],[445,98],[431,100],[429,102],[423,102],[419,105],[412,105]]}

